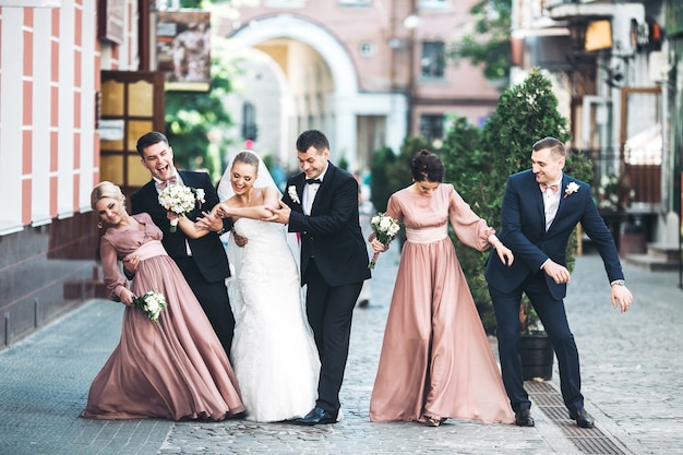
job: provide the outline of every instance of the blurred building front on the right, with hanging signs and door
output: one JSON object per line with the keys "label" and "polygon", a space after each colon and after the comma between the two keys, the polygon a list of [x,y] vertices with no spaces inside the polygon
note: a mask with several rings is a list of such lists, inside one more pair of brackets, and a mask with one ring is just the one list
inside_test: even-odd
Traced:
{"label": "blurred building front on the right, with hanging signs and door", "polygon": [[624,240],[620,252],[636,262],[642,256],[644,264],[652,263],[655,252],[678,264],[680,2],[513,5],[513,80],[540,67],[554,81],[571,119],[572,147],[592,159],[595,196],[618,243]]}

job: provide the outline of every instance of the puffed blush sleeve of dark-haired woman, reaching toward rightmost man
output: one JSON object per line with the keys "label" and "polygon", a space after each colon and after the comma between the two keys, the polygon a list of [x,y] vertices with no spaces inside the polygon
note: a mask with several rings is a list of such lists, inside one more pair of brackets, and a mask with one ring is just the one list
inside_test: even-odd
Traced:
{"label": "puffed blush sleeve of dark-haired woman, reaching toward rightmost man", "polygon": [[455,235],[463,243],[475,250],[487,250],[491,246],[489,237],[495,234],[495,229],[489,227],[484,219],[472,212],[463,196],[453,187],[451,188],[448,216]]}

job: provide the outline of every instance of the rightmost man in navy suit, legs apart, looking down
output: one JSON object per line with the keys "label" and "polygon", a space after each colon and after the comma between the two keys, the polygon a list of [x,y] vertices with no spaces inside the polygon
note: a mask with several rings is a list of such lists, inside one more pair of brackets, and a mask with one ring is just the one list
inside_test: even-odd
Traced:
{"label": "rightmost man in navy suit, legs apart, looking down", "polygon": [[616,247],[592,201],[590,185],[563,173],[565,159],[564,144],[546,137],[534,144],[531,169],[508,177],[499,238],[516,260],[508,267],[496,254],[491,254],[484,272],[498,322],[503,382],[515,411],[515,423],[520,427],[534,427],[519,359],[518,314],[523,292],[551,338],[570,417],[582,428],[594,427],[592,417],[584,408],[578,350],[563,302],[570,283],[565,252],[578,223],[602,258],[611,284],[612,307],[619,306],[624,312],[633,301],[624,286]]}

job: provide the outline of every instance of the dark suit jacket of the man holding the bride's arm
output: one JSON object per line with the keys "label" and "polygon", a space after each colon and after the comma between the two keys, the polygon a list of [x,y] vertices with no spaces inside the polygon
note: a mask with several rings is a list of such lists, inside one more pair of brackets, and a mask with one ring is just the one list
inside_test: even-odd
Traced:
{"label": "dark suit jacket of the man holding the bride's arm", "polygon": [[[291,208],[288,230],[301,234],[301,279],[312,256],[329,286],[370,278],[368,250],[358,220],[358,182],[354,176],[328,163],[311,216],[303,214],[301,205],[304,184],[305,175],[301,172],[287,181],[283,194],[283,202]],[[290,194],[295,190],[296,201]]]}

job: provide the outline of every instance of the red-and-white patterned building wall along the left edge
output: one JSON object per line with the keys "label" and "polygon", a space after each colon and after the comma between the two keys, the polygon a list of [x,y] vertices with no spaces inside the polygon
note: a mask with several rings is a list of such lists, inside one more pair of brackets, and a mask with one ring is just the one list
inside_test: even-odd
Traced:
{"label": "red-and-white patterned building wall along the left edge", "polygon": [[0,1],[0,349],[101,291],[100,74],[139,69],[139,3]]}

